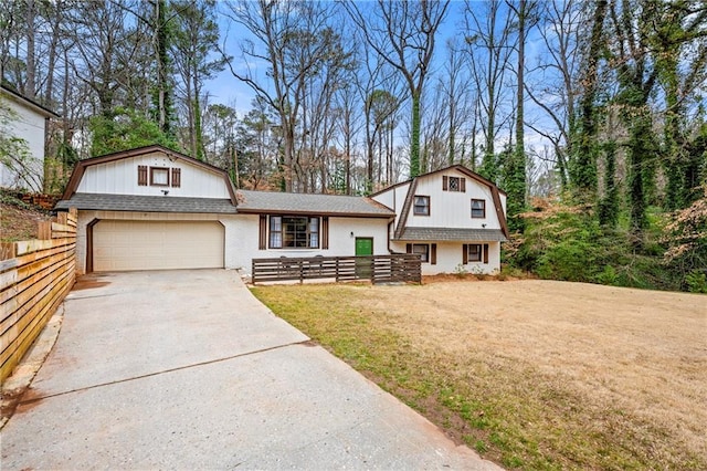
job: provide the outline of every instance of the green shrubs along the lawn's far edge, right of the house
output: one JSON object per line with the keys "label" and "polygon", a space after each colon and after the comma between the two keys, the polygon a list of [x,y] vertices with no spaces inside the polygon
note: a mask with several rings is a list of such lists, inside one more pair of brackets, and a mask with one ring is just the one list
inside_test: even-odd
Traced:
{"label": "green shrubs along the lawn's far edge, right of the house", "polygon": [[[611,229],[601,226],[584,207],[538,208],[537,214],[528,218],[525,234],[511,239],[504,248],[506,262],[511,269],[528,270],[544,279],[654,290],[686,289],[685,271],[664,262],[663,222],[659,212],[652,211],[655,208],[647,212],[647,229],[637,250],[627,214],[620,213],[619,227]],[[690,251],[689,257],[693,255]],[[707,257],[700,260],[707,261]]]}

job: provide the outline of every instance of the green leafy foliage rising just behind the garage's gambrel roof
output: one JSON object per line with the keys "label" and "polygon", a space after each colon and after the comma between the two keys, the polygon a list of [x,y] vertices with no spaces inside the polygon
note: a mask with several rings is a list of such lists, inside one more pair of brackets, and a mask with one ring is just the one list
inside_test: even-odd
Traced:
{"label": "green leafy foliage rising just behind the garage's gambrel roof", "polygon": [[179,150],[177,142],[145,115],[130,108],[116,108],[110,116],[95,116],[88,123],[91,155],[99,156],[158,144]]}

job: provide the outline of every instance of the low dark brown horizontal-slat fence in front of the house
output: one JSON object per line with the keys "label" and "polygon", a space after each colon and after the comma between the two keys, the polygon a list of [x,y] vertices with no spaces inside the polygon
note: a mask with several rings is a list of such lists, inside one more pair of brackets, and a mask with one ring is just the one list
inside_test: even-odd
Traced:
{"label": "low dark brown horizontal-slat fence in front of the house", "polygon": [[373,283],[422,281],[420,257],[411,253],[359,257],[253,259],[253,284],[267,281],[333,279]]}

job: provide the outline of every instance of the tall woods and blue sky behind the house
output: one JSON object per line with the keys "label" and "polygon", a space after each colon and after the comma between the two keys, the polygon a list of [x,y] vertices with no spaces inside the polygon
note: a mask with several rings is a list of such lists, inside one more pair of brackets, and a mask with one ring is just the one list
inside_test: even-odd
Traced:
{"label": "tall woods and blue sky behind the house", "polygon": [[155,143],[298,192],[462,164],[507,191],[511,266],[707,291],[700,0],[11,0],[0,75],[62,115],[49,192]]}

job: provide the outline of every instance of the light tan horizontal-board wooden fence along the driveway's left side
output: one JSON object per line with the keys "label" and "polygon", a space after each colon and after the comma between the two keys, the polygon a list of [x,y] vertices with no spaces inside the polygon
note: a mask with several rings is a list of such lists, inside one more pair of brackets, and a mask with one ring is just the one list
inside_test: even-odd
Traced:
{"label": "light tan horizontal-board wooden fence along the driveway's left side", "polygon": [[0,380],[10,376],[76,278],[76,211],[40,222],[38,237],[0,245]]}

